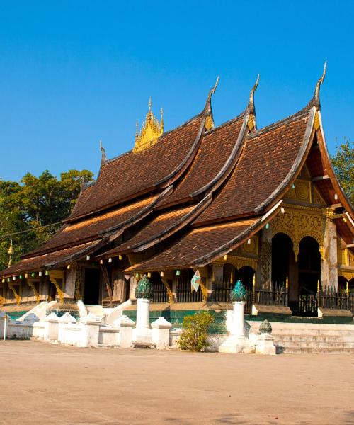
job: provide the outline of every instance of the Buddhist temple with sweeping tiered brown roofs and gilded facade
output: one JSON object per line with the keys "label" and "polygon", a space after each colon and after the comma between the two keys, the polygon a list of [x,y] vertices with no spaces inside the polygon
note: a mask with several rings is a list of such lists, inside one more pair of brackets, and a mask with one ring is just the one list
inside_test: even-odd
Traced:
{"label": "Buddhist temple with sweeping tiered brown roofs and gilded facade", "polygon": [[98,177],[62,228],[1,271],[1,310],[132,300],[133,315],[146,275],[151,310],[170,318],[227,310],[236,280],[247,289],[246,314],[317,317],[328,294],[347,297],[353,312],[354,215],[326,147],[325,71],[304,108],[265,128],[256,121],[258,79],[244,111],[218,126],[217,83],[202,111],[168,132],[149,101],[132,150],[108,159],[102,148]]}

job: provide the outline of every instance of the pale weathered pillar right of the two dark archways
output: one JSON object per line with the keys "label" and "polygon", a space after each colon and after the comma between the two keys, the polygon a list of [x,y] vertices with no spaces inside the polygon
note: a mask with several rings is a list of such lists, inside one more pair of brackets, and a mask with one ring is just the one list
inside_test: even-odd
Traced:
{"label": "pale weathered pillar right of the two dark archways", "polygon": [[338,289],[337,229],[336,224],[326,217],[324,249],[321,257],[321,288]]}

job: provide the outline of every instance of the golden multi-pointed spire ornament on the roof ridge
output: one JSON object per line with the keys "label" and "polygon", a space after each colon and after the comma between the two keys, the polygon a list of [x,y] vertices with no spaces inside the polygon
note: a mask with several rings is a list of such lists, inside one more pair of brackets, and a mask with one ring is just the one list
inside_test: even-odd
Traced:
{"label": "golden multi-pointed spire ornament on the roof ridge", "polygon": [[137,130],[135,132],[135,146],[133,152],[141,152],[148,147],[154,146],[159,136],[164,132],[164,111],[161,108],[161,121],[155,117],[152,113],[152,98],[149,98],[149,110],[145,117],[144,123],[142,124],[142,129],[138,134],[138,124]]}

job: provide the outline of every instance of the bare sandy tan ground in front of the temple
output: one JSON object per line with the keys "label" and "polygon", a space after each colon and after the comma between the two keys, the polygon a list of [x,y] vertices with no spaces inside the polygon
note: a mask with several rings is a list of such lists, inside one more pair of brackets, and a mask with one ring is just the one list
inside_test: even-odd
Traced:
{"label": "bare sandy tan ground in front of the temple", "polygon": [[0,424],[354,424],[354,356],[0,341]]}

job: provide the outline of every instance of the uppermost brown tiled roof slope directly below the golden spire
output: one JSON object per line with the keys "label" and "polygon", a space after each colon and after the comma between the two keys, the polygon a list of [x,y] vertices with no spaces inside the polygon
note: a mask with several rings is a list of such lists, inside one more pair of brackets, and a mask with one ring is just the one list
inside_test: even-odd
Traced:
{"label": "uppermost brown tiled roof slope directly below the golden spire", "polygon": [[130,151],[103,163],[96,183],[89,188],[89,196],[84,196],[82,202],[79,199],[69,220],[91,215],[161,186],[186,158],[196,153],[204,120],[204,115],[197,115],[185,125],[161,135],[149,149]]}

